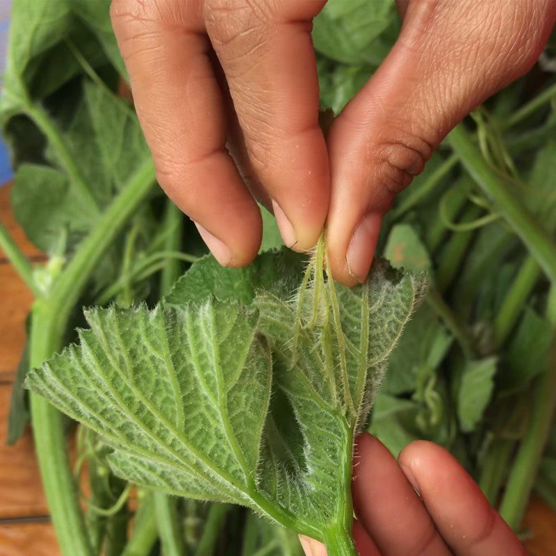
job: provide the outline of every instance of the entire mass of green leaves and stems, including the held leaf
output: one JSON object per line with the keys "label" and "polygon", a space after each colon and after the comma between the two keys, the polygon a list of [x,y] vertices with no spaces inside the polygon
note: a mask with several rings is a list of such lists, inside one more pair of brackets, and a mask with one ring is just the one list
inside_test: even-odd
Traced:
{"label": "entire mass of green leaves and stems, including the held leaf", "polygon": [[[323,108],[341,111],[399,27],[390,0],[329,0]],[[65,555],[293,556],[295,532],[352,554],[363,429],[394,454],[444,445],[516,530],[532,488],[556,508],[553,74],[452,132],[384,222],[389,263],[351,290],[327,279],[322,241],[310,259],[281,250],[268,213],[250,267],[204,256],[156,188],[122,76],[107,1],[15,1],[0,122],[13,210],[49,258],[31,266],[0,226],[36,298],[9,439],[31,409]],[[71,465],[73,421],[43,396],[82,423]]]}

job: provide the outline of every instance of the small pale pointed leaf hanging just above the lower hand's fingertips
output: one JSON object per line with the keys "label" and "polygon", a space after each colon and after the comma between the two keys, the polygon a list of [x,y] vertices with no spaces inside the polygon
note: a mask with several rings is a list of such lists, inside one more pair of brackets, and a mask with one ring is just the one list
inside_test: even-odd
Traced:
{"label": "small pale pointed leaf hanging just above the lower hand's fingertips", "polygon": [[496,363],[496,357],[469,361],[463,370],[457,395],[457,415],[464,432],[475,429],[491,400]]}

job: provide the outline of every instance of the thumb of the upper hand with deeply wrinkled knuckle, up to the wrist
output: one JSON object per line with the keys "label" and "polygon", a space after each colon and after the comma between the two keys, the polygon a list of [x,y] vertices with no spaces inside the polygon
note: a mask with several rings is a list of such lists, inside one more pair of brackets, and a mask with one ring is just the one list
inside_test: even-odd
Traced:
{"label": "thumb of the upper hand with deeply wrinkled knuckle, up to the wrist", "polygon": [[329,133],[327,243],[338,281],[364,281],[382,215],[450,129],[527,72],[556,19],[551,0],[411,0],[400,37]]}

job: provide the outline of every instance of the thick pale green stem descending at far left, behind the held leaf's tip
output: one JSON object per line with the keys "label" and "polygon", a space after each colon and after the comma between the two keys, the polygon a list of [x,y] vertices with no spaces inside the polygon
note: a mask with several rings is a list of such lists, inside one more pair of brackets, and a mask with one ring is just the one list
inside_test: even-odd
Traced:
{"label": "thick pale green stem descending at far left, behind the held leaf's tip", "polygon": [[[56,313],[45,300],[37,300],[31,320],[31,368],[60,350],[63,336]],[[31,420],[44,493],[65,556],[92,556],[83,512],[67,455],[62,415],[38,395],[31,394]]]}

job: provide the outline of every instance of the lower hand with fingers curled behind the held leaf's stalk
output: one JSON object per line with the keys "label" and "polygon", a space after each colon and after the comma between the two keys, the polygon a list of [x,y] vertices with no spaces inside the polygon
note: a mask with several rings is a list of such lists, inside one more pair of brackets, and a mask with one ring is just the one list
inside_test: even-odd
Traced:
{"label": "lower hand with fingers curled behind the held leaf's stalk", "polygon": [[[527,555],[464,468],[432,442],[409,444],[396,461],[363,434],[353,474],[361,556]],[[302,545],[307,556],[326,555],[316,541],[303,538]]]}

